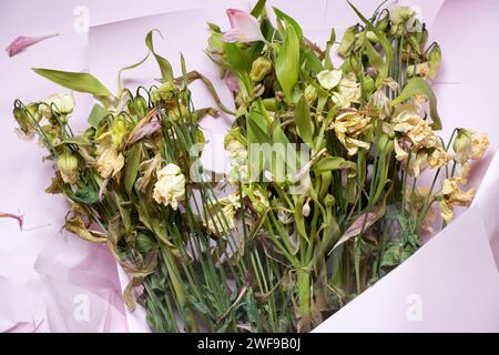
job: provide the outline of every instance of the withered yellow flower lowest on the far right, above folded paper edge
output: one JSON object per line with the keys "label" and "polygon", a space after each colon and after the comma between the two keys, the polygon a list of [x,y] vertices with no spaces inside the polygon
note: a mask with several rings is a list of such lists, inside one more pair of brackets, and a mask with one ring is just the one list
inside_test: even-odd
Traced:
{"label": "withered yellow flower lowest on the far right, above folded paper edge", "polygon": [[452,220],[455,205],[469,206],[475,196],[475,189],[464,192],[458,186],[459,181],[460,178],[450,178],[442,182],[439,206],[440,215],[446,222]]}

